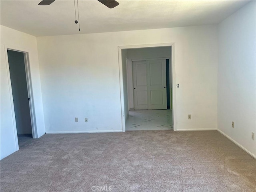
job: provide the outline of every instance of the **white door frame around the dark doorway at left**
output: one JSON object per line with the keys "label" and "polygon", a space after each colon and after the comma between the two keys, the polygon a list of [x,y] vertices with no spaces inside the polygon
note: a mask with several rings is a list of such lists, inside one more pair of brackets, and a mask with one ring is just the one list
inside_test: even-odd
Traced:
{"label": "white door frame around the dark doorway at left", "polygon": [[12,96],[12,84],[11,84],[11,77],[10,77],[8,52],[7,52],[8,50],[22,52],[24,54],[27,91],[28,91],[28,98],[30,98],[29,107],[30,107],[30,119],[31,119],[31,126],[32,126],[32,136],[33,136],[33,138],[38,138],[38,136],[37,136],[37,130],[36,130],[36,117],[35,117],[35,111],[34,111],[34,99],[33,99],[33,94],[32,94],[32,82],[31,82],[30,62],[29,62],[30,61],[29,50],[27,50],[25,48],[20,48],[20,47],[4,44],[7,78],[8,78],[8,86],[9,86],[11,109],[12,109],[12,123],[13,123],[13,127],[14,127],[14,134],[16,136],[15,137],[16,149],[18,150],[19,149],[19,144],[18,144],[18,134],[17,134],[17,127],[16,127],[15,112],[14,112],[13,96]]}

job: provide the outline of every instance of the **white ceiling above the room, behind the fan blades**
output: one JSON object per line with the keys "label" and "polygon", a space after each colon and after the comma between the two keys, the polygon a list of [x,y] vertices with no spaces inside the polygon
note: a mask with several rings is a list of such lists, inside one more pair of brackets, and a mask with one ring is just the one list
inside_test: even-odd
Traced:
{"label": "white ceiling above the room, behind the fan blades", "polygon": [[1,0],[1,24],[34,36],[98,33],[218,24],[249,1],[118,0],[109,9],[97,0],[79,0],[80,28],[74,0]]}

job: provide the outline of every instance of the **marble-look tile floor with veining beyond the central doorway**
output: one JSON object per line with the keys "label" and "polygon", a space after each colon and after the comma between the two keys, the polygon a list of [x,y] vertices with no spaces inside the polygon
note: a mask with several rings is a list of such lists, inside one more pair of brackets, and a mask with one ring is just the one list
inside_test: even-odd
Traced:
{"label": "marble-look tile floor with veining beyond the central doorway", "polygon": [[172,130],[172,110],[130,110],[126,130]]}

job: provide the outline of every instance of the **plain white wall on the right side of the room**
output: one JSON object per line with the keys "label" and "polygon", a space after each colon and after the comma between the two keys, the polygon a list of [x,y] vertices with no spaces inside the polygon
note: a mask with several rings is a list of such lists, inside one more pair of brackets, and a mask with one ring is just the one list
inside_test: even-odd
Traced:
{"label": "plain white wall on the right side of the room", "polygon": [[[255,1],[218,25],[218,129],[256,155]],[[235,126],[232,128],[232,121]]]}

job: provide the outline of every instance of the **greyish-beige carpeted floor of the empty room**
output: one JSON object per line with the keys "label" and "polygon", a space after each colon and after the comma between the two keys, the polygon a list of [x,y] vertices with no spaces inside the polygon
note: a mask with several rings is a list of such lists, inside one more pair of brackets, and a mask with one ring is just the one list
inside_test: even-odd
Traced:
{"label": "greyish-beige carpeted floor of the empty room", "polygon": [[256,191],[256,160],[217,131],[46,134],[19,143],[1,160],[1,192]]}

